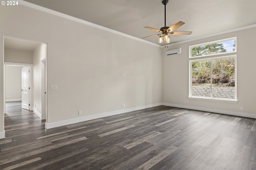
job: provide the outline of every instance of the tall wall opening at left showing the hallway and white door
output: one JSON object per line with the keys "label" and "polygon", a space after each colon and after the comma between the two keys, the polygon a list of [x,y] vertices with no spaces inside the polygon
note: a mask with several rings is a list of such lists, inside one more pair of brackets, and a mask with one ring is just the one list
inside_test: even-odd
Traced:
{"label": "tall wall opening at left showing the hallway and white door", "polygon": [[[25,109],[33,111],[42,120],[47,119],[46,57],[46,43],[4,37],[4,113],[6,113],[6,102],[22,101],[22,106],[24,78],[28,78],[26,81],[28,82],[27,104],[29,106]],[[28,77],[22,72],[24,68],[28,68]],[[11,93],[12,90],[15,93]],[[20,107],[17,103],[16,106]]]}

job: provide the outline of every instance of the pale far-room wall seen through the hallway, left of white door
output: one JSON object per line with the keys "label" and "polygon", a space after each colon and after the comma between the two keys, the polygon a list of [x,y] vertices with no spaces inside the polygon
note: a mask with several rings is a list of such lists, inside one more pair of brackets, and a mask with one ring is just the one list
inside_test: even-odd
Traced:
{"label": "pale far-room wall seen through the hallway, left of white door", "polygon": [[5,67],[5,101],[21,101],[22,66]]}

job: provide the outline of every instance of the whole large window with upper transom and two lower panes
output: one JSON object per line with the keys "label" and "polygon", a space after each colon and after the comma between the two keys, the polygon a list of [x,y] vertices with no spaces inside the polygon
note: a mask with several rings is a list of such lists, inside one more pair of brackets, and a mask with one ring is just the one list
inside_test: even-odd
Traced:
{"label": "whole large window with upper transom and two lower panes", "polygon": [[[229,51],[222,48],[228,44],[225,40],[190,46],[190,98],[236,101],[236,55],[219,57],[236,51],[235,38],[228,41]],[[211,48],[215,50],[209,52]]]}

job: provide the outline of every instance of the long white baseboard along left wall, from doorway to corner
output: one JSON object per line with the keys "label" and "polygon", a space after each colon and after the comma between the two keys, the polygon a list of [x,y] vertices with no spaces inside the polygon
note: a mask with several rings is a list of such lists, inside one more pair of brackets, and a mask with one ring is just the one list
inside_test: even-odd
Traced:
{"label": "long white baseboard along left wall, from doorway to corner", "polygon": [[130,111],[147,109],[147,108],[150,108],[150,107],[156,107],[156,106],[161,106],[161,105],[162,105],[162,103],[150,104],[150,105],[146,105],[146,106],[139,106],[139,107],[133,107],[133,108],[129,108],[129,109],[110,111],[110,112],[107,112],[107,113],[100,113],[100,114],[97,114],[97,115],[79,117],[79,118],[76,118],[76,119],[69,119],[69,120],[65,120],[65,121],[58,121],[58,122],[53,122],[53,123],[45,123],[45,128],[46,129],[51,129],[51,128],[54,128],[54,127],[70,125],[70,124],[79,123],[79,122],[82,122],[82,121],[88,121],[88,120],[92,120],[92,119],[99,119],[99,118],[102,118],[102,117],[118,115],[118,114],[130,112]]}

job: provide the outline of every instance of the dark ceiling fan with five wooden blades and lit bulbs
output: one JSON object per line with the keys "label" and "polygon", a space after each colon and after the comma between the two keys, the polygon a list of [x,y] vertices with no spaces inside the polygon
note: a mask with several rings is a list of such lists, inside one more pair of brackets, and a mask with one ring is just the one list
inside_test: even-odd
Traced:
{"label": "dark ceiling fan with five wooden blades and lit bulbs", "polygon": [[[154,29],[154,28],[151,28],[151,27],[144,27],[144,28],[147,28],[147,29],[151,29],[152,31],[159,32],[159,34],[148,36],[148,37],[154,37],[154,36],[160,35],[160,37],[158,39],[159,43],[163,42],[163,37],[164,37],[164,41],[166,43],[170,43],[170,36],[168,35],[168,33],[172,34],[172,35],[190,35],[192,33],[192,31],[174,31],[175,29],[177,29],[178,27],[180,27],[181,25],[184,24],[184,22],[182,22],[182,21],[178,21],[174,25],[172,25],[170,27],[166,27],[166,4],[167,3],[168,3],[168,0],[163,0],[162,1],[162,4],[164,5],[164,27],[160,28],[160,30]],[[143,38],[148,38],[148,37],[143,37]]]}

